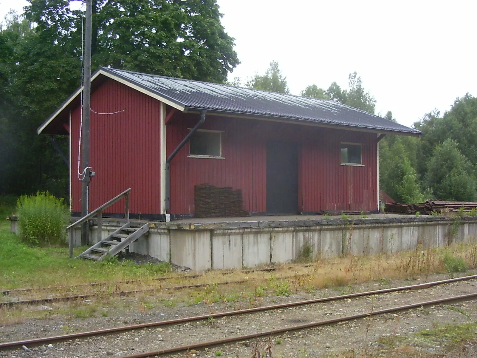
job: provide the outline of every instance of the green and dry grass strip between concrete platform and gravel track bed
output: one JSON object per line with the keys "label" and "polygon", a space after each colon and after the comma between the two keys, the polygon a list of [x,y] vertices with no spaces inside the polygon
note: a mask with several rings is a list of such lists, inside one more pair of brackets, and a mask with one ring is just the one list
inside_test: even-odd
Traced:
{"label": "green and dry grass strip between concrete platform and gravel track bed", "polygon": [[[113,302],[114,292],[156,288],[151,293],[141,293],[132,297],[118,299],[120,305],[139,311],[160,306],[178,304],[206,304],[213,310],[216,302],[227,304],[229,309],[241,309],[259,306],[263,297],[289,296],[293,293],[307,292],[310,295],[330,295],[330,291],[320,289],[333,287],[339,293],[349,293],[353,284],[376,281],[379,284],[391,284],[393,279],[414,279],[433,273],[460,272],[449,270],[449,262],[463,262],[468,268],[477,266],[477,244],[452,244],[445,248],[423,248],[396,254],[378,254],[370,257],[358,257],[347,254],[343,257],[321,259],[309,264],[289,263],[278,267],[272,273],[254,272],[243,274],[240,270],[224,274],[223,271],[208,271],[196,278],[174,278],[167,282],[147,281],[170,272],[167,263],[137,265],[132,262],[118,262],[116,258],[97,263],[86,260],[71,260],[67,248],[63,246],[33,247],[22,242],[18,235],[9,233],[9,222],[0,220],[0,287],[14,289],[24,287],[47,287],[66,285],[62,292],[37,291],[28,298],[40,298],[46,295],[66,295],[96,292],[96,288],[82,292],[83,287],[76,285],[104,282],[100,287],[101,295],[93,298],[95,303],[82,305],[52,305],[53,311],[5,309],[0,314],[0,324],[20,322],[25,317],[42,318],[60,314],[66,317],[104,316],[105,304]],[[75,248],[79,254],[84,248]],[[457,268],[459,265],[454,265]],[[451,265],[452,266],[452,265]],[[167,274],[169,276],[170,274]],[[247,280],[240,284],[218,285],[223,281]],[[143,280],[126,285],[119,281]],[[161,290],[174,285],[207,283],[207,287],[185,290]],[[84,289],[85,290],[85,289]],[[8,296],[0,300],[9,300]],[[112,313],[109,312],[111,315]]]}

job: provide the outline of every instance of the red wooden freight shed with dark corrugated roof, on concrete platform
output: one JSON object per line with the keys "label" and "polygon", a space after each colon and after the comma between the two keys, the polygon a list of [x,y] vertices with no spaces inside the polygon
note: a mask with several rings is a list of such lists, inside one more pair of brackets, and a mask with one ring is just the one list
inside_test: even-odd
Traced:
{"label": "red wooden freight shed with dark corrugated roof, on concrete platform", "polygon": [[[38,128],[70,137],[74,213],[81,92]],[[90,211],[132,188],[131,216],[146,220],[193,216],[205,183],[241,190],[252,215],[377,211],[379,140],[421,134],[330,100],[111,68],[92,76],[90,122]]]}

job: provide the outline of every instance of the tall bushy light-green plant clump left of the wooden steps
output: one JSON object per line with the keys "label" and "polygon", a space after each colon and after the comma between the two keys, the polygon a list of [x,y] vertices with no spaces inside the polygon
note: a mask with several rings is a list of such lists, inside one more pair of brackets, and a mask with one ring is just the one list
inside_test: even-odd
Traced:
{"label": "tall bushy light-green plant clump left of the wooden steps", "polygon": [[17,201],[20,234],[30,244],[59,244],[66,238],[69,211],[62,199],[48,192],[22,195]]}

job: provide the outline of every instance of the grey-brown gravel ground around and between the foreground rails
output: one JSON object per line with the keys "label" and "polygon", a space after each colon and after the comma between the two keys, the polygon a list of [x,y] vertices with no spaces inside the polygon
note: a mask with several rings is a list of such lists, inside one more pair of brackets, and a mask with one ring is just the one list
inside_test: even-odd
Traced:
{"label": "grey-brown gravel ground around and between the foreground rails", "polygon": [[[465,275],[470,274],[474,274],[474,272],[467,272]],[[386,284],[371,282],[353,287],[320,290],[315,292],[313,297],[340,295],[345,293],[343,290],[353,290],[354,292],[368,291],[446,278],[449,278],[448,275],[438,274],[430,275],[427,280],[423,279],[422,281],[393,281]],[[242,336],[279,327],[291,327],[330,318],[350,316],[383,308],[445,298],[452,295],[475,293],[476,284],[477,280],[472,280],[436,286],[424,290],[396,292],[373,297],[360,297],[337,302],[290,307],[246,316],[229,316],[216,320],[141,329],[103,337],[83,338],[55,343],[52,344],[51,347],[28,347],[29,350],[15,349],[0,351],[0,356],[12,358],[125,356],[194,342]],[[311,298],[311,294],[304,292],[293,294],[289,297],[270,295],[263,297],[261,305],[272,305]],[[134,301],[134,299],[134,297],[118,298],[118,300],[129,301]],[[84,305],[88,304],[91,303],[84,303]],[[177,304],[175,307],[166,307],[157,304],[152,305],[154,307],[151,306],[150,309],[144,309],[140,306],[133,306],[128,309],[111,307],[107,311],[107,316],[102,316],[101,312],[98,312],[97,316],[83,319],[66,319],[53,314],[50,316],[51,318],[27,320],[21,324],[1,326],[0,342],[160,321],[177,317],[196,316],[236,309],[238,305],[242,305],[242,308],[246,308],[248,304],[249,301],[243,303],[216,303],[212,305],[206,305],[204,303],[195,305]],[[48,310],[46,307],[53,309]],[[416,332],[432,329],[446,323],[460,324],[474,322],[477,317],[476,307],[477,301],[469,301],[452,306],[436,305],[400,312],[394,315],[373,316],[371,319],[361,319],[342,324],[287,332],[283,335],[271,338],[273,357],[345,357],[345,355],[343,355],[344,351],[358,354],[360,352],[362,353],[364,348],[369,352],[367,356],[388,357],[389,352],[384,352],[381,349],[388,348],[388,346],[390,346],[390,340],[392,343],[391,346],[394,349],[394,343],[401,339],[401,337],[414,337],[413,335]],[[56,309],[55,305],[44,306],[43,308],[50,312],[54,312]],[[38,308],[30,307],[28,309]],[[383,341],[388,343],[384,344]],[[261,352],[264,351],[266,345],[266,339],[261,339],[259,344]],[[248,358],[252,356],[254,346],[255,341],[244,341],[222,347],[210,347],[200,352],[184,353],[176,355],[175,357],[193,356],[193,354],[196,354],[200,357],[230,355],[232,357]],[[443,345],[439,344],[439,342],[419,347],[418,353],[420,357],[457,357],[457,355],[452,355],[454,353],[446,352]],[[476,348],[474,348],[474,346],[469,343],[465,355],[459,355],[458,357],[474,357],[476,355],[477,344]],[[395,356],[395,352],[393,356]],[[346,357],[352,357],[352,355]],[[401,356],[398,355],[396,357]],[[415,355],[402,355],[402,357],[415,357]]]}

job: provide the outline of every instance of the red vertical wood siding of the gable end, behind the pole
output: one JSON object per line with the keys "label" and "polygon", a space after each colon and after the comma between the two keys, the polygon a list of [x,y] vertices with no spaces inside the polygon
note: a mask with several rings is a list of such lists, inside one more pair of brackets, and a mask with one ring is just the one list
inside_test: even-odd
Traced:
{"label": "red vertical wood siding of the gable end, behind the pole", "polygon": [[[108,80],[91,95],[89,209],[94,210],[132,188],[130,211],[160,214],[160,102],[124,84]],[[77,176],[80,108],[72,113],[73,211],[81,211],[81,182]],[[124,200],[107,212],[124,212]]]}

